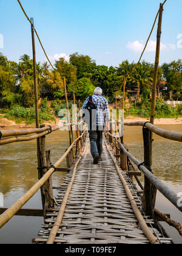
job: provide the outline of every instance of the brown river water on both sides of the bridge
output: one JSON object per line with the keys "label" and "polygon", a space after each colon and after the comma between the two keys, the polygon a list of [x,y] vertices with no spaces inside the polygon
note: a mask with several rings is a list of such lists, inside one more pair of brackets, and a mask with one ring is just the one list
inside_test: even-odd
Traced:
{"label": "brown river water on both sides of the bridge", "polygon": [[[160,126],[162,129],[182,132],[181,126]],[[141,127],[126,127],[124,140],[129,151],[143,162],[143,138]],[[55,163],[69,146],[68,132],[57,131],[47,139],[47,149],[51,150],[51,162]],[[4,207],[9,207],[25,194],[38,180],[36,170],[36,141],[14,143],[0,147],[0,193],[4,194]],[[153,172],[175,193],[182,193],[182,144],[155,136],[153,143]],[[66,162],[62,163],[66,166]],[[53,174],[53,186],[62,182],[64,173]],[[143,182],[143,177],[141,181]],[[56,193],[56,191],[55,191]],[[41,195],[36,193],[24,208],[41,208]],[[182,215],[161,193],[157,195],[156,208],[170,213],[172,219],[182,224]],[[0,244],[30,244],[41,230],[41,217],[15,216],[0,230]],[[175,243],[182,244],[178,232],[162,223]]]}

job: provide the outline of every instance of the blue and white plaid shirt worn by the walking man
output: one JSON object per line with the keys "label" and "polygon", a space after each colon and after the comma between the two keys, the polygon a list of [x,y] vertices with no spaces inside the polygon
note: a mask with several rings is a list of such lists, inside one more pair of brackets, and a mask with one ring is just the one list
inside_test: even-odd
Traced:
{"label": "blue and white plaid shirt worn by the walking man", "polygon": [[[89,97],[84,102],[82,109],[86,108],[88,102]],[[96,125],[106,126],[106,121],[110,121],[110,110],[107,99],[100,94],[95,94],[92,96],[92,102],[96,106]]]}

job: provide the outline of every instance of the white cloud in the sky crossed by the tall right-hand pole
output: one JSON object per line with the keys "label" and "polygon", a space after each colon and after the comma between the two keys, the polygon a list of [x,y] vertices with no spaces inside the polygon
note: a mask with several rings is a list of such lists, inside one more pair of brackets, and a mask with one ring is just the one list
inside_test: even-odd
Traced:
{"label": "white cloud in the sky crossed by the tall right-hand pole", "polygon": [[[152,41],[150,40],[149,43],[147,44],[147,48],[146,51],[147,52],[155,52],[156,51],[156,41]],[[134,52],[142,52],[144,49],[144,44],[142,41],[133,41],[133,42],[129,42],[126,45],[127,48],[131,49]],[[165,51],[165,50],[175,50],[176,46],[175,44],[163,44],[161,43],[161,51]]]}

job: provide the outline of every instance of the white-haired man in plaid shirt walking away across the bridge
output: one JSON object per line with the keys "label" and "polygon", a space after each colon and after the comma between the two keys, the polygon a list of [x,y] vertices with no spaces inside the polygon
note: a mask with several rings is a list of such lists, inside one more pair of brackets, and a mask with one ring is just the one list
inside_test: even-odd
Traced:
{"label": "white-haired man in plaid shirt walking away across the bridge", "polygon": [[[82,107],[82,109],[85,110],[87,109],[87,105],[91,103],[96,108],[96,120],[94,121],[92,116],[89,130],[91,154],[93,156],[93,163],[95,165],[102,160],[104,127],[106,127],[106,132],[108,132],[110,126],[109,103],[107,99],[102,96],[102,94],[103,90],[97,87],[94,91],[94,95],[91,96],[92,101],[90,97],[88,97]],[[95,125],[93,125],[93,123]]]}

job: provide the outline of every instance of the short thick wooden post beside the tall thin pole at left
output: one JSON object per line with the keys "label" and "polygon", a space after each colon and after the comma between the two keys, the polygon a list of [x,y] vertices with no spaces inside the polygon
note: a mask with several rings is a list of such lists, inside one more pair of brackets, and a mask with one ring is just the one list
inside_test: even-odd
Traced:
{"label": "short thick wooden post beside the tall thin pole at left", "polygon": [[[45,124],[41,125],[41,128],[45,127]],[[42,176],[47,172],[47,158],[45,152],[45,135],[41,137],[41,162],[42,162]],[[50,165],[49,165],[50,166]],[[53,190],[52,179],[47,180],[41,187],[42,207],[44,210],[44,216],[47,208],[53,208]]]}

